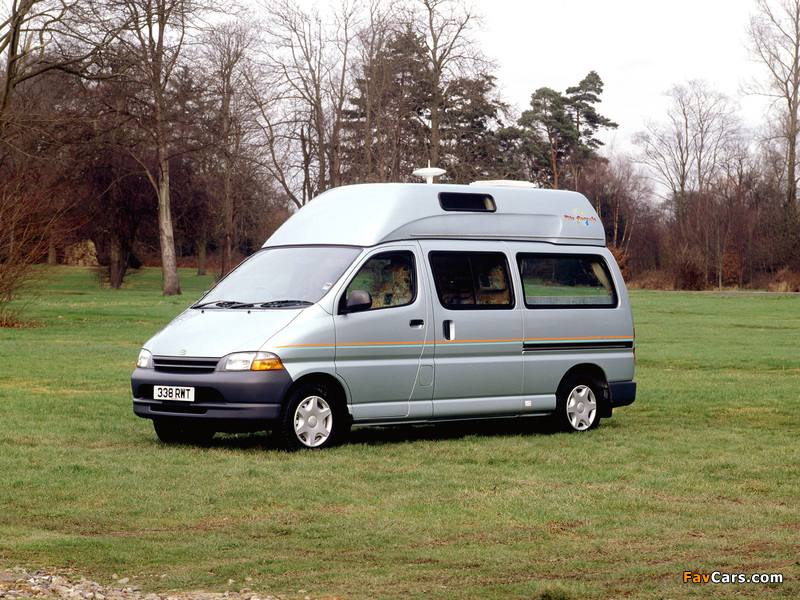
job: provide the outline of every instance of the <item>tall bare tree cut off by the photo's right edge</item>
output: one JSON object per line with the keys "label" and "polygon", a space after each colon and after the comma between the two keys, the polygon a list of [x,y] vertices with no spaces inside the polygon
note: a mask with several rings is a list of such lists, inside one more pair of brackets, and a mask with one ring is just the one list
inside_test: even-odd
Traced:
{"label": "tall bare tree cut off by the photo's right edge", "polygon": [[750,51],[769,73],[755,91],[775,100],[786,152],[784,208],[797,216],[797,138],[800,135],[800,0],[756,0],[747,30]]}

